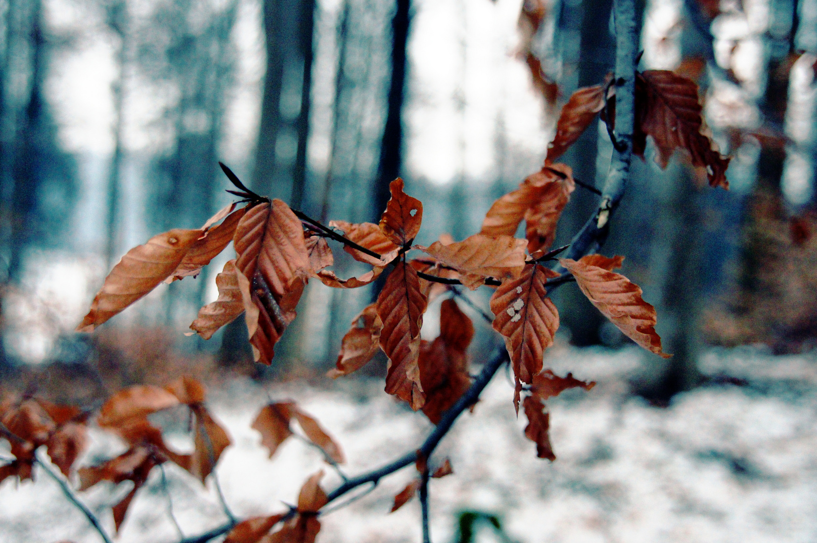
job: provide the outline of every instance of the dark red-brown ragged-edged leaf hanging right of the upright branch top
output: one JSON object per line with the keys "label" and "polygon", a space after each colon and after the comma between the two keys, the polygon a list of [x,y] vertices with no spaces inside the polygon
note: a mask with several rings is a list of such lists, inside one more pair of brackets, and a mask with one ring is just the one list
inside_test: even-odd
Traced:
{"label": "dark red-brown ragged-edged leaf hanging right of the upright branch top", "polygon": [[636,131],[632,151],[644,156],[646,137],[653,136],[656,162],[667,167],[675,149],[690,153],[694,166],[707,168],[709,185],[729,188],[723,157],[703,123],[698,86],[667,70],[646,70],[636,77]]}

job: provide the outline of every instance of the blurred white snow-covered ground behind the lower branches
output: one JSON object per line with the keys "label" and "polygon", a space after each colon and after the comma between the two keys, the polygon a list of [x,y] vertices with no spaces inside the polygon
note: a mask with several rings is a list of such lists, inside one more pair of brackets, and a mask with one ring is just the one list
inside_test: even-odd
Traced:
{"label": "blurred white snow-covered ground behind the lower branches", "polygon": [[[554,463],[535,456],[522,434],[512,388],[498,374],[473,415],[466,414],[438,451],[454,474],[431,482],[432,541],[452,541],[458,513],[500,514],[512,539],[544,541],[697,541],[706,543],[817,540],[817,357],[772,357],[755,349],[709,352],[705,372],[749,381],[705,387],[677,397],[666,409],[627,395],[628,375],[641,353],[555,348],[546,362],[598,381],[589,393],[569,390],[551,400]],[[340,380],[339,380],[340,381]],[[324,487],[339,481],[319,454],[289,440],[270,460],[252,418],[269,398],[292,398],[341,443],[347,474],[359,474],[417,447],[431,424],[395,403],[375,381],[350,379],[327,389],[303,384],[232,381],[212,390],[212,411],[233,438],[218,476],[238,517],[271,514],[292,503],[306,478],[322,467]],[[91,464],[121,449],[94,433]],[[190,446],[182,434],[168,441]],[[118,448],[119,447],[119,448]],[[368,496],[321,518],[319,543],[420,541],[419,505],[389,514],[392,496],[415,476],[408,467]],[[127,492],[101,483],[83,499],[112,527],[108,505]],[[185,536],[224,522],[211,487],[175,466],[167,489]],[[479,541],[494,541],[489,532]],[[168,543],[179,536],[167,515],[162,477],[154,470],[136,497],[119,541]],[[87,521],[42,472],[36,483],[0,486],[0,541],[55,543],[99,541]]]}

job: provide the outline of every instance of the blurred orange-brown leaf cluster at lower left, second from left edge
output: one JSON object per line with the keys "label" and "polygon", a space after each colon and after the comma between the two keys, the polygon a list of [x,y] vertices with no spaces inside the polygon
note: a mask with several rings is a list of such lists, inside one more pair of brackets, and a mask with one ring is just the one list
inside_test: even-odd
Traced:
{"label": "blurred orange-brown leaf cluster at lower left, second from left edge", "polygon": [[[100,481],[132,481],[131,492],[113,507],[117,529],[122,525],[136,492],[155,466],[172,461],[202,483],[215,469],[221,453],[230,445],[230,437],[204,407],[205,399],[205,389],[199,381],[182,377],[163,388],[136,385],[123,389],[102,405],[97,425],[123,438],[128,449],[101,465],[80,468],[79,490],[86,490]],[[194,452],[191,454],[179,454],[167,447],[162,431],[147,418],[152,413],[181,405],[189,410],[194,428]]]}

